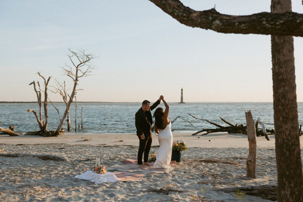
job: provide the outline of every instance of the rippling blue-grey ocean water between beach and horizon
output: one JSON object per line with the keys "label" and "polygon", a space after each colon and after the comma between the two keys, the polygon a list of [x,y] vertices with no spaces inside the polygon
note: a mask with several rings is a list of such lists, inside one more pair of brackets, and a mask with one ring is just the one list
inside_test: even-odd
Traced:
{"label": "rippling blue-grey ocean water between beach and horizon", "polygon": [[[172,124],[175,133],[194,133],[203,128],[215,128],[208,122],[194,119],[188,114],[208,119],[223,126],[227,126],[227,124],[221,121],[219,116],[232,124],[246,125],[245,111],[248,110],[251,110],[254,120],[260,117],[266,128],[274,128],[273,103],[188,102],[185,104],[168,104],[170,105],[169,119],[171,121],[177,116],[182,116],[195,126],[194,128],[187,121],[177,119]],[[59,109],[62,116],[65,104],[54,103],[54,105]],[[82,107],[84,129],[78,130],[78,122],[81,126]],[[135,113],[140,107],[141,103],[77,103],[76,134],[135,133]],[[164,104],[161,103],[158,107],[164,108]],[[38,104],[0,104],[0,127],[8,128],[12,125],[15,126],[15,132],[18,133],[39,130],[34,114],[27,112],[28,109],[34,109],[38,113]],[[70,111],[72,131],[66,132],[67,134],[75,133],[75,103],[72,104]],[[48,103],[48,117],[48,130],[55,130],[59,123],[59,116],[51,103]],[[303,124],[302,102],[298,103],[298,120],[299,124]],[[66,130],[66,124],[63,125],[63,129]]]}

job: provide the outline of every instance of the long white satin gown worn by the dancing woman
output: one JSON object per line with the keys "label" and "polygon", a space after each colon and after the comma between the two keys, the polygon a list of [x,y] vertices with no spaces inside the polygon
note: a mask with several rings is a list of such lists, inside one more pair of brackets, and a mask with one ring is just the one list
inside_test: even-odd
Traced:
{"label": "long white satin gown worn by the dancing woman", "polygon": [[159,131],[159,151],[157,152],[157,159],[154,164],[155,168],[170,168],[171,151],[172,151],[172,133],[171,122],[166,126],[164,130]]}

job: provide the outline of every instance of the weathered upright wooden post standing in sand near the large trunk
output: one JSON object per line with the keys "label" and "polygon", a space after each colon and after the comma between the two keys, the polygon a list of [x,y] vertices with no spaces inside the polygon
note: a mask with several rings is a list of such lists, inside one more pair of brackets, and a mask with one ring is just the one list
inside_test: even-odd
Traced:
{"label": "weathered upright wooden post standing in sand near the large trunk", "polygon": [[255,121],[251,111],[245,111],[249,153],[246,160],[246,177],[256,178],[257,140]]}

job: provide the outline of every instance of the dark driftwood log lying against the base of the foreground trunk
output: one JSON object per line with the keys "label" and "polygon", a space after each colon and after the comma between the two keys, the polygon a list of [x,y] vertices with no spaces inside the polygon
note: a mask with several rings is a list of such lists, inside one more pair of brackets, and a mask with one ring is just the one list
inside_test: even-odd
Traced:
{"label": "dark driftwood log lying against the base of the foreground trunk", "polygon": [[232,187],[232,188],[216,189],[215,191],[236,193],[238,189],[239,191],[242,191],[247,195],[260,197],[265,200],[271,200],[271,201],[278,200],[278,187],[273,185]]}

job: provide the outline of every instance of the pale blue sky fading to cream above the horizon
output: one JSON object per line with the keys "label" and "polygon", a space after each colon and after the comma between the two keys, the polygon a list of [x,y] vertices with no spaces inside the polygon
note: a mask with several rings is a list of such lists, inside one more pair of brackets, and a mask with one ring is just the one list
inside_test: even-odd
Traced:
{"label": "pale blue sky fading to cream above the horizon", "polygon": [[[271,1],[181,0],[228,15],[270,12]],[[301,1],[293,12],[303,13]],[[68,48],[98,58],[77,101],[272,102],[269,35],[222,34],[180,24],[147,0],[0,0],[0,101],[37,101],[32,81],[66,81]],[[297,101],[303,38],[294,37]],[[51,88],[51,87],[49,87]],[[71,93],[71,90],[69,90]],[[62,101],[48,92],[51,101]]]}

